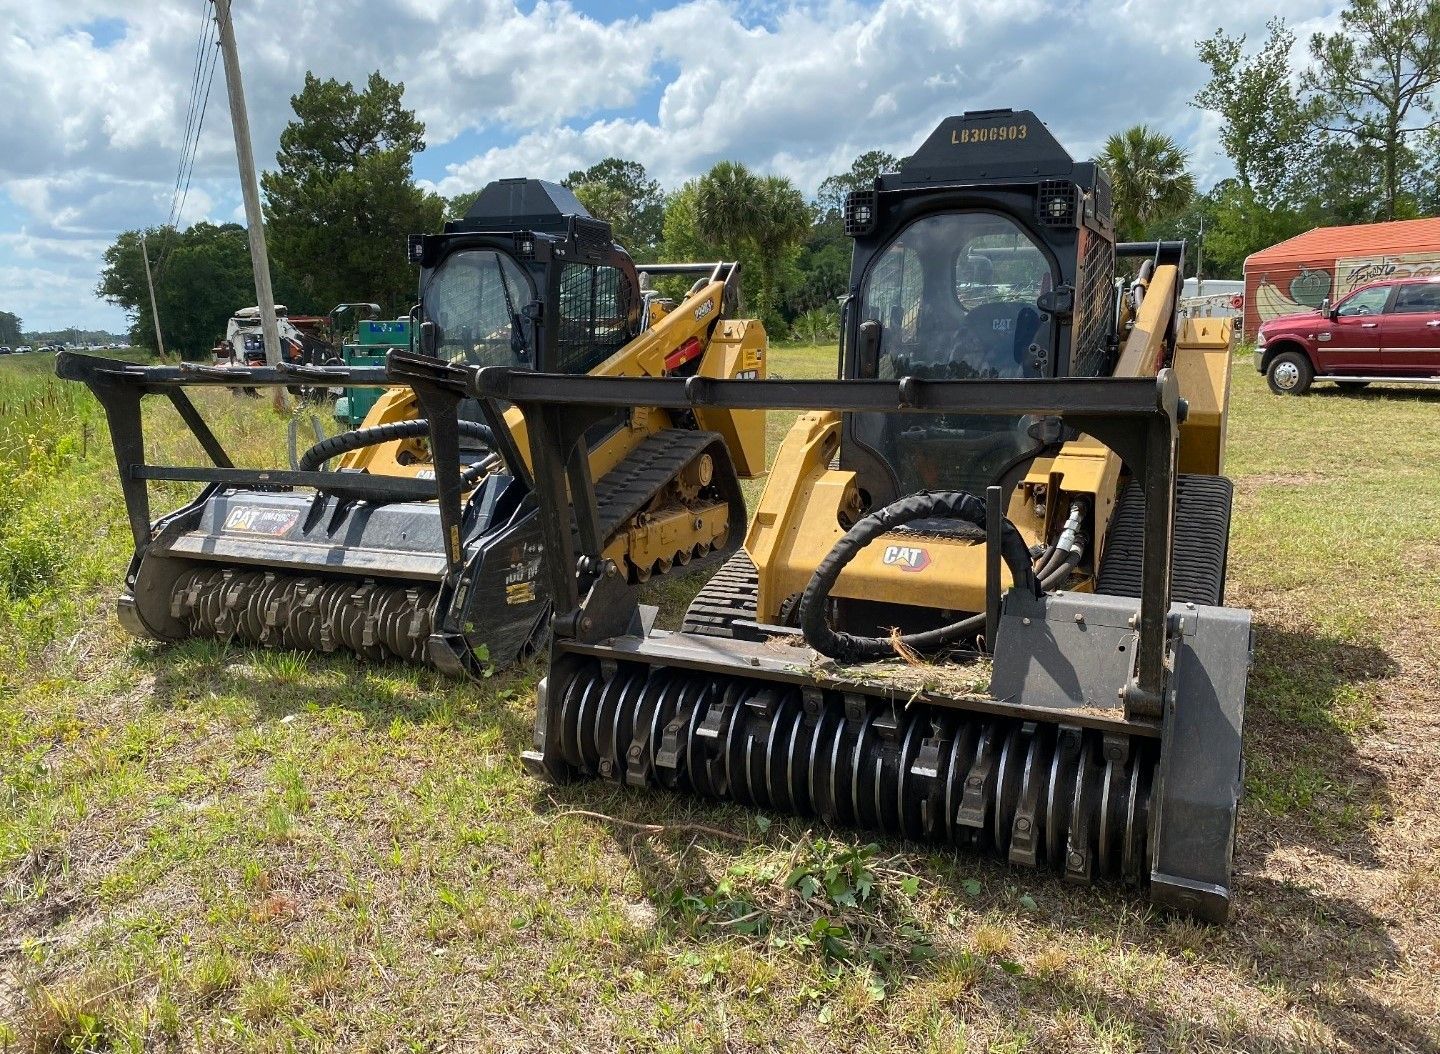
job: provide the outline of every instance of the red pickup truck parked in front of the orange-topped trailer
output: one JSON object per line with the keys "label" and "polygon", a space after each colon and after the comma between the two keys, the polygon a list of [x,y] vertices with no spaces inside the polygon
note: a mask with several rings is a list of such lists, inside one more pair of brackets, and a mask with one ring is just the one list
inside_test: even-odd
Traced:
{"label": "red pickup truck parked in front of the orange-topped trailer", "polygon": [[1305,395],[1316,380],[1440,384],[1440,276],[1371,282],[1263,323],[1256,370],[1276,395]]}

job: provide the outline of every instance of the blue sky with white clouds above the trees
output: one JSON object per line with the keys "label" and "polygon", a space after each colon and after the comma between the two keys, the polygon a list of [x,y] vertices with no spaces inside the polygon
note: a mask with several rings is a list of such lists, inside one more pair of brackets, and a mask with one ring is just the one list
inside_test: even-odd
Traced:
{"label": "blue sky with white clouds above the trees", "polygon": [[[429,130],[416,176],[451,194],[560,179],[615,154],[667,187],[743,160],[806,192],[864,150],[909,153],[945,115],[1034,109],[1076,156],[1146,122],[1225,174],[1188,105],[1194,42],[1261,36],[1243,0],[233,0],[255,154],[271,163],[311,69],[406,84]],[[1287,7],[1300,37],[1328,0]],[[122,330],[101,253],[173,207],[207,0],[0,0],[0,310],[30,328]],[[240,217],[217,75],[183,222]]]}

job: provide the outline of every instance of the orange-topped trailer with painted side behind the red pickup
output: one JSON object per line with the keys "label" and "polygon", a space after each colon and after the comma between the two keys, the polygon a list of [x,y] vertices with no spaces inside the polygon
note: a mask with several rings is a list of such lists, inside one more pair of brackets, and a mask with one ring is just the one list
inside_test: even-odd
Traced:
{"label": "orange-topped trailer with painted side behind the red pickup", "polygon": [[1440,219],[1316,228],[1246,259],[1244,335],[1380,278],[1440,275]]}

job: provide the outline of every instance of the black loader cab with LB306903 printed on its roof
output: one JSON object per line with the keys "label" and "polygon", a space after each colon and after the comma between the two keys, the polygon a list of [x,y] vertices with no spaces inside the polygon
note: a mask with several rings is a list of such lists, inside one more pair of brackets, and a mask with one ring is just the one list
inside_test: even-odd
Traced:
{"label": "black loader cab with LB306903 printed on its roof", "polygon": [[[1022,380],[1113,367],[1110,189],[1028,111],[953,117],[845,203],[850,379]],[[868,507],[1009,490],[1056,442],[1032,415],[847,415],[841,467]]]}

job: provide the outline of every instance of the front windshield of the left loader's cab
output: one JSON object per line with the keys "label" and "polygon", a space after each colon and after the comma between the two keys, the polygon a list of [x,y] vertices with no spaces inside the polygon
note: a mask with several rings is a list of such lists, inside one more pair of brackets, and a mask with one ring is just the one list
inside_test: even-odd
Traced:
{"label": "front windshield of the left loader's cab", "polygon": [[435,324],[435,354],[471,366],[534,366],[520,310],[534,299],[528,276],[497,249],[452,252],[420,298]]}

